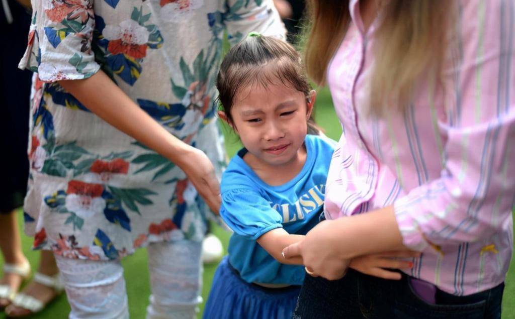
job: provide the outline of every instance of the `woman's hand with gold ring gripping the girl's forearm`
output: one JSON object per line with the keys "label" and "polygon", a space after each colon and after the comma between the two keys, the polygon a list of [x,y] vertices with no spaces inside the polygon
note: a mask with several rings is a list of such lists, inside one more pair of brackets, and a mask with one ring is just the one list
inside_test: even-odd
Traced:
{"label": "woman's hand with gold ring gripping the girl's forearm", "polygon": [[338,228],[335,221],[325,220],[309,231],[304,240],[291,244],[283,250],[285,258],[302,257],[306,271],[312,276],[329,280],[345,276],[350,259],[342,257],[338,247]]}

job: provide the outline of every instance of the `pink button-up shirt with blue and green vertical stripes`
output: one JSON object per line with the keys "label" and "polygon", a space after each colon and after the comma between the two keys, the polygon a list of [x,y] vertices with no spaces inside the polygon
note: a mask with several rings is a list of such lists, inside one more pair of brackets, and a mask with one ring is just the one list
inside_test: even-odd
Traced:
{"label": "pink button-up shirt with blue and green vertical stripes", "polygon": [[[328,218],[394,205],[409,275],[454,295],[504,281],[515,200],[515,5],[460,1],[443,84],[418,83],[407,112],[366,115],[376,22],[357,0],[328,82],[344,134],[325,194]],[[381,229],[377,229],[381,232]]]}

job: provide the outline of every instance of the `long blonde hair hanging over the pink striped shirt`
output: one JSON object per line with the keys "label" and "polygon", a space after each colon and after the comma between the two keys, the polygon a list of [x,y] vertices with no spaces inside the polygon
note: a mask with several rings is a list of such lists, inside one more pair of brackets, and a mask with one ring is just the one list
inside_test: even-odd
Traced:
{"label": "long blonde hair hanging over the pink striped shirt", "polygon": [[[422,73],[427,79],[438,80],[449,36],[453,34],[450,30],[453,3],[448,0],[381,3],[382,21],[374,32],[375,61],[370,79],[372,113],[382,115],[386,110],[404,110]],[[323,85],[329,62],[351,20],[349,0],[309,0],[307,12],[311,26],[304,61],[307,74]]]}

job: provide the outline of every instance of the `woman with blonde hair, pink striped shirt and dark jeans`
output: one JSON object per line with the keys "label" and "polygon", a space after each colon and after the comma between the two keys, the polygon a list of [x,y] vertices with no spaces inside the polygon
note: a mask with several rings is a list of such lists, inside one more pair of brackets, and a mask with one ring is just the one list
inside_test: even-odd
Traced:
{"label": "woman with blonde hair, pink striped shirt and dark jeans", "polygon": [[[284,251],[312,275],[296,315],[500,318],[513,249],[514,2],[311,5],[305,64],[329,84],[344,134],[328,220]],[[422,254],[400,280],[347,272],[356,256],[402,249]]]}

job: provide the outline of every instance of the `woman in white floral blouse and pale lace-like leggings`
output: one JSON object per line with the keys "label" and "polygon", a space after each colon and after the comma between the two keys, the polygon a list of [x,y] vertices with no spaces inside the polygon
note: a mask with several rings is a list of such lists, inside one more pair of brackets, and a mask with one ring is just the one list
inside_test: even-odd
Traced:
{"label": "woman in white floral blouse and pale lace-like leggings", "polygon": [[194,317],[201,240],[224,165],[213,102],[222,38],[283,38],[272,1],[32,7],[20,62],[37,72],[26,232],[35,249],[54,251],[70,317],[127,317],[119,259],[141,246],[148,317]]}

